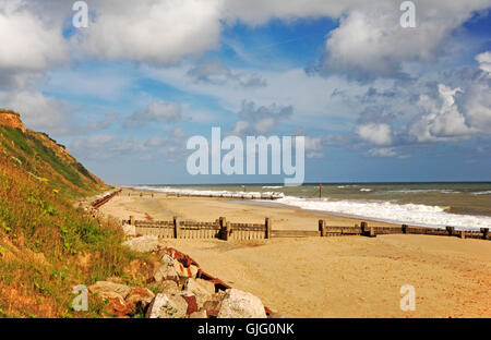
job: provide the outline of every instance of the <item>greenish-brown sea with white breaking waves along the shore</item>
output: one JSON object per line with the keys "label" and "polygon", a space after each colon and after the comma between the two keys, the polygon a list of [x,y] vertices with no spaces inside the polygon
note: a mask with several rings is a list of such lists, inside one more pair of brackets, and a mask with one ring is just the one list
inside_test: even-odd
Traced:
{"label": "greenish-brown sea with white breaking waves along the shore", "polygon": [[[491,182],[132,185],[203,196],[279,197],[274,205],[393,223],[479,230],[491,228]],[[272,205],[268,199],[251,204]]]}

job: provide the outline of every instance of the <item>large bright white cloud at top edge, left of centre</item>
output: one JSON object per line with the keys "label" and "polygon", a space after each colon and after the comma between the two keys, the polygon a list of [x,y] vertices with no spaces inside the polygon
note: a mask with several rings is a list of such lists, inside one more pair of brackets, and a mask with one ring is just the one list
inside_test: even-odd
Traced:
{"label": "large bright white cloud at top edge, left of centre", "polygon": [[96,16],[74,37],[91,57],[157,65],[218,47],[220,0],[94,2]]}

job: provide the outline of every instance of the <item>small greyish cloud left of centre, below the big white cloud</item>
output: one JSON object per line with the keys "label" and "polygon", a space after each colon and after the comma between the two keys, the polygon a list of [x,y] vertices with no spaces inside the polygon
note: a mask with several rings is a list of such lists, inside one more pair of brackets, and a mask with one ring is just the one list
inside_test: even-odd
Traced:
{"label": "small greyish cloud left of centre, below the big white cloud", "polygon": [[141,127],[149,122],[177,122],[181,119],[181,106],[176,102],[153,101],[145,110],[127,118],[124,127]]}

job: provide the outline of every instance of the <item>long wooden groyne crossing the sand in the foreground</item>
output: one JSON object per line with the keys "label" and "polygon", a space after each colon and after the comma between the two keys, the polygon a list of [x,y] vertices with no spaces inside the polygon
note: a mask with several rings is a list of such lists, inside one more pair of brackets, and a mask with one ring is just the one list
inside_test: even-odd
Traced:
{"label": "long wooden groyne crossing the sand in the foreground", "polygon": [[328,226],[326,220],[319,220],[318,230],[274,230],[272,221],[265,218],[264,223],[237,223],[229,222],[220,217],[212,222],[199,222],[191,220],[179,220],[173,217],[168,221],[141,221],[130,216],[123,221],[134,226],[135,234],[155,235],[161,239],[220,239],[228,240],[267,240],[272,238],[308,238],[308,236],[347,236],[360,235],[376,238],[382,234],[426,234],[456,236],[460,239],[490,240],[489,228],[474,230],[455,230],[454,227],[427,228],[410,227],[402,224],[397,227],[369,226],[361,222],[354,227]]}

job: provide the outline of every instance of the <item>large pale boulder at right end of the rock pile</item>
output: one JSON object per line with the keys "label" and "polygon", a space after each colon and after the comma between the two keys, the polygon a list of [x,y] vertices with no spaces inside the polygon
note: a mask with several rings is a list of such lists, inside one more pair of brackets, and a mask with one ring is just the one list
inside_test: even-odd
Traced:
{"label": "large pale boulder at right end of the rock pile", "polygon": [[221,301],[218,318],[265,318],[264,305],[258,296],[238,289],[228,289]]}

